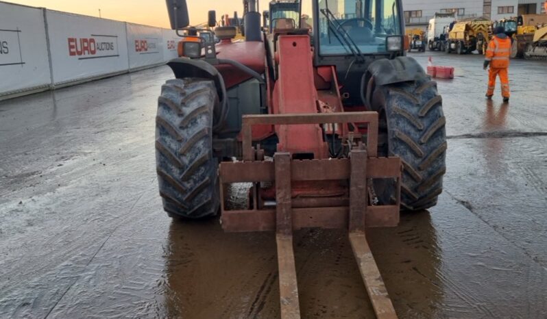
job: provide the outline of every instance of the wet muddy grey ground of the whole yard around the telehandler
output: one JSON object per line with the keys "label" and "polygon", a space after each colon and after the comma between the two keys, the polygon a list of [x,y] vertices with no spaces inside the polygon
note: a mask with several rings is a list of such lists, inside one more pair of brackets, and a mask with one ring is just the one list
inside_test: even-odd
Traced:
{"label": "wet muddy grey ground of the whole yard around the telehandler", "polygon": [[[433,59],[457,75],[439,81],[445,190],[369,231],[393,305],[401,318],[546,318],[547,64],[514,61],[502,105],[499,91],[484,99],[481,57]],[[0,102],[0,318],[279,316],[272,233],[162,212],[154,117],[169,77]],[[343,231],[298,231],[295,254],[305,318],[371,315]]]}

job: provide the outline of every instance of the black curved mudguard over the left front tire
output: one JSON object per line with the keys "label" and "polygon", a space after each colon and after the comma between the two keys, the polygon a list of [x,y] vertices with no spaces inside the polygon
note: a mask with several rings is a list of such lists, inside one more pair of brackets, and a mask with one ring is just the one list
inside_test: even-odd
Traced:
{"label": "black curved mudguard over the left front tire", "polygon": [[167,62],[167,65],[173,70],[177,79],[199,77],[215,81],[221,105],[227,103],[226,85],[224,84],[222,75],[215,66],[208,64],[204,60],[191,60],[189,58],[176,58]]}

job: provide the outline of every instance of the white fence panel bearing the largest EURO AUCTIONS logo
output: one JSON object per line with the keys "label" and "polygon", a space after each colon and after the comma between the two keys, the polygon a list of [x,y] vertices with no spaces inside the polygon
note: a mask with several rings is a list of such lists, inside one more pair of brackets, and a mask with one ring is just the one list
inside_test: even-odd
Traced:
{"label": "white fence panel bearing the largest EURO AUCTIONS logo", "polygon": [[55,85],[127,72],[125,23],[47,10]]}

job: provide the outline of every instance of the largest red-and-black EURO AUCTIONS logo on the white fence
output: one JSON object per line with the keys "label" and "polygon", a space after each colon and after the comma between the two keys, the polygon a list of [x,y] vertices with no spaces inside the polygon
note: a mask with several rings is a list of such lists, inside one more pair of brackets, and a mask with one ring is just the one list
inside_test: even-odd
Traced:
{"label": "largest red-and-black EURO AUCTIONS logo on the white fence", "polygon": [[91,34],[86,38],[68,38],[68,46],[69,55],[78,60],[119,57],[118,36]]}

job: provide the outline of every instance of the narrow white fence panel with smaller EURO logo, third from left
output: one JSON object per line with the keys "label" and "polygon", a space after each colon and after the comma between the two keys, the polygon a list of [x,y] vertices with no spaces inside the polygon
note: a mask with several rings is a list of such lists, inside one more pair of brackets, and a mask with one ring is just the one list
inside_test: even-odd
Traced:
{"label": "narrow white fence panel with smaller EURO logo, third from left", "polygon": [[126,25],[130,69],[163,63],[162,29],[133,23]]}

